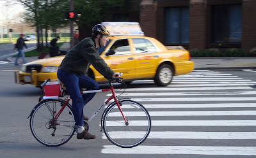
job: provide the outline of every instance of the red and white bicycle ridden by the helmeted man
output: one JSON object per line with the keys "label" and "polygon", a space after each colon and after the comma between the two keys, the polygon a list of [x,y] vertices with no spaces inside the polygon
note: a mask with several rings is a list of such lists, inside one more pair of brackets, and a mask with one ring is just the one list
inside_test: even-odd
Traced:
{"label": "red and white bicycle ridden by the helmeted man", "polygon": [[[46,80],[44,85],[49,82]],[[113,82],[124,83],[122,78],[109,80],[109,89],[81,91],[81,94],[111,91],[112,95],[100,108],[93,113],[88,121],[84,120],[84,129],[89,130],[88,123],[114,99],[104,110],[100,125],[111,143],[122,148],[136,147],[148,137],[151,129],[151,119],[146,108],[129,98],[117,99]],[[124,89],[125,91],[125,89]],[[67,143],[76,131],[72,106],[66,99],[44,99],[36,104],[31,111],[30,129],[37,141],[49,147],[57,147]],[[28,117],[28,118],[29,118]]]}

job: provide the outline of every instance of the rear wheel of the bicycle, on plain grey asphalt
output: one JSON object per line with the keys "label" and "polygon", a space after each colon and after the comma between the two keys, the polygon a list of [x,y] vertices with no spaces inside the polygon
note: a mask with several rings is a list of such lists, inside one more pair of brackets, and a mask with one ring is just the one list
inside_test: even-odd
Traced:
{"label": "rear wheel of the bicycle, on plain grey asphalt", "polygon": [[63,103],[60,99],[46,99],[38,103],[31,113],[31,132],[43,145],[63,145],[75,132],[75,119],[70,104],[65,106],[58,119],[52,123]]}

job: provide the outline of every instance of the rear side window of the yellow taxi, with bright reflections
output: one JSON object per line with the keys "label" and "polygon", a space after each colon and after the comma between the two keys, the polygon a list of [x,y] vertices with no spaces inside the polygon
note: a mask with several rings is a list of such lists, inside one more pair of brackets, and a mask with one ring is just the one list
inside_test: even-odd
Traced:
{"label": "rear side window of the yellow taxi, with bright reflections", "polygon": [[132,38],[135,52],[143,53],[143,52],[157,52],[156,47],[148,40],[144,38]]}

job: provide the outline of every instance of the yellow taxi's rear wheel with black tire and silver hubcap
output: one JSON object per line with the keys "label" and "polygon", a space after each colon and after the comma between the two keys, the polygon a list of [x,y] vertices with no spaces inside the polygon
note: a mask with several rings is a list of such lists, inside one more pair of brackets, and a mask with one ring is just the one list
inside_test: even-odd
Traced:
{"label": "yellow taxi's rear wheel with black tire and silver hubcap", "polygon": [[[170,81],[168,82],[163,82],[161,81],[161,73],[163,73],[163,71],[167,71],[171,73],[171,78]],[[163,74],[162,74],[163,75]],[[165,87],[167,85],[170,85],[170,83],[172,82],[172,78],[173,78],[173,68],[172,66],[168,65],[168,64],[161,64],[161,66],[159,66],[157,68],[157,72],[156,72],[156,76],[154,78],[154,81],[156,83],[157,86],[159,87]]]}

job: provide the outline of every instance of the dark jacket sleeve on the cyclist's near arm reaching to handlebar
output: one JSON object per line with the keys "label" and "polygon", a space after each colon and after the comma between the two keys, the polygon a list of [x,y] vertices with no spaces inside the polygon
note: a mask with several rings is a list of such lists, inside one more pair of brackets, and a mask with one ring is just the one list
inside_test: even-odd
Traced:
{"label": "dark jacket sleeve on the cyclist's near arm reaching to handlebar", "polygon": [[104,78],[109,79],[115,73],[111,68],[109,68],[104,59],[100,57],[92,43],[86,43],[82,46],[81,55],[86,59],[86,61],[90,62],[92,66],[104,76]]}

